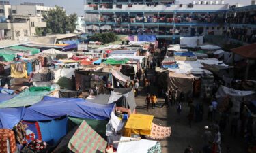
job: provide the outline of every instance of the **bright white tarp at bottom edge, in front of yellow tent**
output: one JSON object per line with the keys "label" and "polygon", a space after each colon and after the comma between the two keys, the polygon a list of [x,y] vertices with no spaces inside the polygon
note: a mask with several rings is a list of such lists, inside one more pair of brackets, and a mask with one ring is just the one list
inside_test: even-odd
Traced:
{"label": "bright white tarp at bottom edge, in front of yellow tent", "polygon": [[[121,137],[120,141],[134,139],[131,137]],[[147,150],[155,146],[157,141],[141,139],[139,141],[120,142],[117,153],[147,153]]]}

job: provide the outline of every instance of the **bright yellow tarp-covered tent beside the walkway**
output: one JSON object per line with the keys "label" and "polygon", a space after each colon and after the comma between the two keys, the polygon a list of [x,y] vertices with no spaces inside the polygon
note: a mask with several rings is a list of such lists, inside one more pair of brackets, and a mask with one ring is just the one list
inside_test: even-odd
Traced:
{"label": "bright yellow tarp-covered tent beside the walkway", "polygon": [[130,114],[124,127],[124,136],[131,137],[132,134],[150,135],[153,118],[154,116],[150,115]]}

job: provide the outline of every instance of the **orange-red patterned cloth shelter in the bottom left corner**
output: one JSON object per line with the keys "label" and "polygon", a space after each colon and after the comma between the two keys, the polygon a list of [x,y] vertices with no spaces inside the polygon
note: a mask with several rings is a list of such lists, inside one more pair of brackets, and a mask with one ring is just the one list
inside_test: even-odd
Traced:
{"label": "orange-red patterned cloth shelter in the bottom left corner", "polygon": [[9,129],[0,129],[0,152],[1,153],[15,153],[16,140],[14,131]]}

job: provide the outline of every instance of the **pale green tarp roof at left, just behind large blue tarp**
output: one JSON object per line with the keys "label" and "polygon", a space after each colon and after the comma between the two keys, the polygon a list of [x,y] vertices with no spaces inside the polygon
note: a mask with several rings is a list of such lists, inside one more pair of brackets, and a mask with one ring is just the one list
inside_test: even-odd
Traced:
{"label": "pale green tarp roof at left, just behind large blue tarp", "polygon": [[29,89],[27,89],[21,92],[16,97],[0,103],[0,108],[23,107],[33,105],[41,101],[45,95],[48,95],[50,93],[51,92],[49,91],[29,91]]}

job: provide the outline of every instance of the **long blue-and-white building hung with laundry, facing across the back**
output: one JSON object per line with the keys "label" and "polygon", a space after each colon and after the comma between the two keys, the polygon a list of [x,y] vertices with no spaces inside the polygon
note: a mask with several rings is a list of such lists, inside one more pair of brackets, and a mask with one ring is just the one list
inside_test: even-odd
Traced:
{"label": "long blue-and-white building hung with laundry, facing across the back", "polygon": [[229,5],[224,1],[85,0],[84,7],[87,33],[143,32],[173,41],[180,36],[222,35]]}

